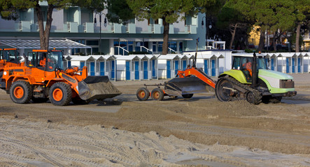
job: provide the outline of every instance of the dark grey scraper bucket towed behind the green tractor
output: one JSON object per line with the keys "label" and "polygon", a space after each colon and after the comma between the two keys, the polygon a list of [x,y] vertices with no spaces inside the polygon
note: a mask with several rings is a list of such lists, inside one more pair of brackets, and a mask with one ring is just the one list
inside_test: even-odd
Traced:
{"label": "dark grey scraper bucket towed behind the green tractor", "polygon": [[197,77],[174,78],[167,81],[164,87],[168,95],[187,95],[209,92],[213,88]]}

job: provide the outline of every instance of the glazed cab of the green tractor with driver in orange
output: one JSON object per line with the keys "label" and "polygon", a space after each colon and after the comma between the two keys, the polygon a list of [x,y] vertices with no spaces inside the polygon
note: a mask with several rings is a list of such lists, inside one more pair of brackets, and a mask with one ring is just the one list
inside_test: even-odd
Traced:
{"label": "glazed cab of the green tractor with driver in orange", "polygon": [[[244,73],[244,77],[246,77],[247,82],[252,81],[252,63],[253,57],[249,56],[234,56],[234,60],[232,62],[232,70],[241,70]],[[267,69],[266,61],[263,56],[256,57],[257,70]]]}

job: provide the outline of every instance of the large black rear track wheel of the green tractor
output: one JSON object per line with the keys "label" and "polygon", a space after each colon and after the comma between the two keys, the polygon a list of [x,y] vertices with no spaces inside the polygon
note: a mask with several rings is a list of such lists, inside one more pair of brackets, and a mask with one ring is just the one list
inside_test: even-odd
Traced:
{"label": "large black rear track wheel of the green tractor", "polygon": [[218,97],[218,100],[220,102],[228,102],[232,100],[232,90],[227,88],[233,88],[233,84],[230,81],[227,81],[225,78],[221,78],[218,80],[216,84],[216,97]]}

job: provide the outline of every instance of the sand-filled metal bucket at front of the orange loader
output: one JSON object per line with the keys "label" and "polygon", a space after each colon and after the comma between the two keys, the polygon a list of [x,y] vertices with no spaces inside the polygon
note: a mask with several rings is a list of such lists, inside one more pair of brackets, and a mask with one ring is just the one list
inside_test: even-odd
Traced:
{"label": "sand-filled metal bucket at front of the orange loader", "polygon": [[107,76],[88,76],[78,83],[78,94],[82,100],[104,100],[122,93]]}

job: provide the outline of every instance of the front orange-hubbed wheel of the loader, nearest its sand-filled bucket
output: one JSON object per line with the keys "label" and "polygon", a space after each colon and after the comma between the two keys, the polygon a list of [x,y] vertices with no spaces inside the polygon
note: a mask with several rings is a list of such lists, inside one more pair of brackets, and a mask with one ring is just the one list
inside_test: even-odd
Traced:
{"label": "front orange-hubbed wheel of the loader, nearest its sand-filled bucket", "polygon": [[50,87],[50,102],[55,106],[66,106],[71,102],[72,90],[64,82],[57,82]]}

